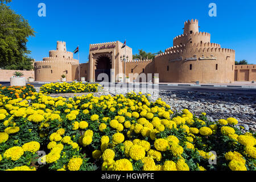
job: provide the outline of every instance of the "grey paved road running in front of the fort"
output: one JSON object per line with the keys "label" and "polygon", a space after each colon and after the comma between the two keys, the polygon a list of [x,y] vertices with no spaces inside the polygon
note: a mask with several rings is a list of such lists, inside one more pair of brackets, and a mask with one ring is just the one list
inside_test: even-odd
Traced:
{"label": "grey paved road running in front of the fort", "polygon": [[[0,82],[3,86],[10,86],[10,82]],[[46,83],[40,83],[40,82],[35,82],[32,83],[35,87],[40,87]],[[135,88],[135,86],[138,88],[154,88],[154,85],[146,85],[146,84],[129,84],[129,87]],[[118,88],[125,88],[128,87],[127,84],[115,84]],[[169,90],[169,91],[187,91],[187,92],[225,92],[225,93],[238,93],[238,94],[255,94],[256,95],[256,88],[241,88],[237,86],[230,86],[230,87],[223,87],[223,86],[188,86],[188,85],[178,85],[178,86],[173,86],[173,85],[163,85],[159,84],[159,90]],[[155,87],[157,88],[157,87]]]}

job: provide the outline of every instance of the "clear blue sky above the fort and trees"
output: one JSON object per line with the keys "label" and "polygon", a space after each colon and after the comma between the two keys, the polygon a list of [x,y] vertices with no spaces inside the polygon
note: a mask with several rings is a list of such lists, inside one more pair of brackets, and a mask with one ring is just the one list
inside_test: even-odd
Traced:
{"label": "clear blue sky above the fort and trees", "polygon": [[[40,2],[46,4],[46,17],[38,16]],[[217,5],[217,17],[208,15],[212,2]],[[81,63],[88,61],[93,43],[126,39],[133,53],[164,51],[175,36],[183,34],[185,20],[199,19],[200,31],[209,32],[211,42],[236,50],[238,61],[256,64],[255,0],[13,0],[9,5],[36,31],[27,43],[36,61],[48,57],[57,40],[67,42],[68,51],[79,45]]]}

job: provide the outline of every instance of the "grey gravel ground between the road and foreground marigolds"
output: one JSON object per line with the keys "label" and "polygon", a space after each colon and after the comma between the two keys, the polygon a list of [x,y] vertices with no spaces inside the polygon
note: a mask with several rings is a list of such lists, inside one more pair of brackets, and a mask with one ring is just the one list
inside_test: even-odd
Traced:
{"label": "grey gravel ground between the road and foreground marigolds", "polygon": [[[36,88],[38,90],[38,88]],[[93,93],[94,96],[110,94],[125,94],[126,89],[109,89],[104,92]],[[162,98],[173,111],[188,109],[193,114],[207,113],[211,121],[218,119],[226,119],[229,117],[236,118],[238,125],[245,127],[245,131],[256,131],[256,95],[223,93],[223,92],[187,92],[167,90],[139,90],[134,92],[142,92],[151,94],[151,101],[155,101],[159,97]],[[86,95],[88,93],[76,93],[77,96]],[[72,97],[75,94],[51,94],[52,97]]]}

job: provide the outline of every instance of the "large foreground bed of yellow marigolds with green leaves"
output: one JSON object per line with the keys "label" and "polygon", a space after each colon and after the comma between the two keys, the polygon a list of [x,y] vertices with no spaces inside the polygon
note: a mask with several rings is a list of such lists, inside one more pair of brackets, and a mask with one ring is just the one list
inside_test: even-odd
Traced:
{"label": "large foreground bed of yellow marigolds with green leaves", "polygon": [[0,170],[255,170],[255,134],[235,118],[213,123],[149,97],[0,96]]}

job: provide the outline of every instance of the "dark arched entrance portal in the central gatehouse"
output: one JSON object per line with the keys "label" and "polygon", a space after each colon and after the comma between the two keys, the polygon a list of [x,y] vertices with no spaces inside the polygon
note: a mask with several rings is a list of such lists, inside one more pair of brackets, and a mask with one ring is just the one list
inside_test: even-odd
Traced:
{"label": "dark arched entrance portal in the central gatehouse", "polygon": [[[112,63],[111,63],[110,57],[107,55],[99,56],[98,59],[96,60],[95,65],[96,65],[95,81],[96,82],[103,81],[104,78],[98,79],[98,75],[100,75],[101,73],[105,73],[106,75],[108,75],[109,82],[110,82],[110,69],[112,68]],[[105,80],[105,81],[108,81],[108,80]]]}

